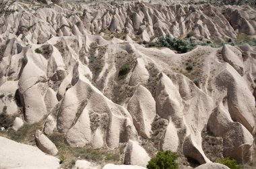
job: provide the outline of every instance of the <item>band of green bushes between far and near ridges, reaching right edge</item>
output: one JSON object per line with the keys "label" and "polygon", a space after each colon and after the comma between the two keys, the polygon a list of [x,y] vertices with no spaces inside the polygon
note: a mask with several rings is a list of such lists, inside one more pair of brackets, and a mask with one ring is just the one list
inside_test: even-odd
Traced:
{"label": "band of green bushes between far and near ridges, reaching right edge", "polygon": [[172,50],[177,50],[181,53],[186,53],[197,45],[201,46],[211,46],[212,48],[220,48],[224,46],[224,44],[230,44],[232,46],[235,45],[242,45],[242,44],[249,44],[250,46],[256,46],[256,40],[247,40],[247,41],[237,41],[237,42],[222,42],[220,44],[212,44],[211,42],[195,42],[194,40],[191,40],[191,38],[181,39],[181,38],[172,38],[170,34],[167,34],[165,37],[162,36],[158,38],[158,41],[156,42],[156,46],[158,47],[167,47]]}

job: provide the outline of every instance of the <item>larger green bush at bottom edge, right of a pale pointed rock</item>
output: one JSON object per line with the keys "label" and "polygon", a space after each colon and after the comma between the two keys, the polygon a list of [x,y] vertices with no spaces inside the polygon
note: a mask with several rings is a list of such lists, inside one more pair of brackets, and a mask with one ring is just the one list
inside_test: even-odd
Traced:
{"label": "larger green bush at bottom edge, right of a pale pointed rock", "polygon": [[179,164],[176,162],[178,156],[176,153],[165,151],[158,152],[156,157],[152,158],[150,162],[148,162],[147,168],[149,169],[178,169]]}

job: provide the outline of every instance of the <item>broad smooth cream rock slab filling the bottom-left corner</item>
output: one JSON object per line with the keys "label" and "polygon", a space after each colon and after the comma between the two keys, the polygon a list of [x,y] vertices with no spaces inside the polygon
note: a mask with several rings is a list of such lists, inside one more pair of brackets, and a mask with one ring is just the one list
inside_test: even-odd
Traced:
{"label": "broad smooth cream rock slab filling the bottom-left corner", "polygon": [[59,159],[5,137],[0,137],[0,152],[0,168],[59,168]]}

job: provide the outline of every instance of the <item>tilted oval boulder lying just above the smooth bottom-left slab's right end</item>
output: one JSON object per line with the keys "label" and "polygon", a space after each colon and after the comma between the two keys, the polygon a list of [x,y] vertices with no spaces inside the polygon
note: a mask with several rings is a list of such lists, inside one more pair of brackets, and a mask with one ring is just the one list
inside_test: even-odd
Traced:
{"label": "tilted oval boulder lying just above the smooth bottom-left slab's right end", "polygon": [[38,148],[42,150],[42,152],[51,154],[53,156],[57,155],[58,150],[55,144],[53,144],[53,142],[51,142],[51,140],[48,137],[46,137],[46,135],[44,135],[42,131],[36,130],[35,139],[36,146],[38,146]]}

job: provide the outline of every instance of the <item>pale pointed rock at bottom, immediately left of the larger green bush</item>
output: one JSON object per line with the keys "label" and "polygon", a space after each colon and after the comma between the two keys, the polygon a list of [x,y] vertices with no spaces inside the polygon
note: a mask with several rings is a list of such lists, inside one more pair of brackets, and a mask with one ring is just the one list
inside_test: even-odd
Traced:
{"label": "pale pointed rock at bottom, immediately left of the larger green bush", "polygon": [[148,161],[150,161],[150,157],[146,150],[139,146],[137,142],[129,140],[125,151],[125,164],[146,167]]}

